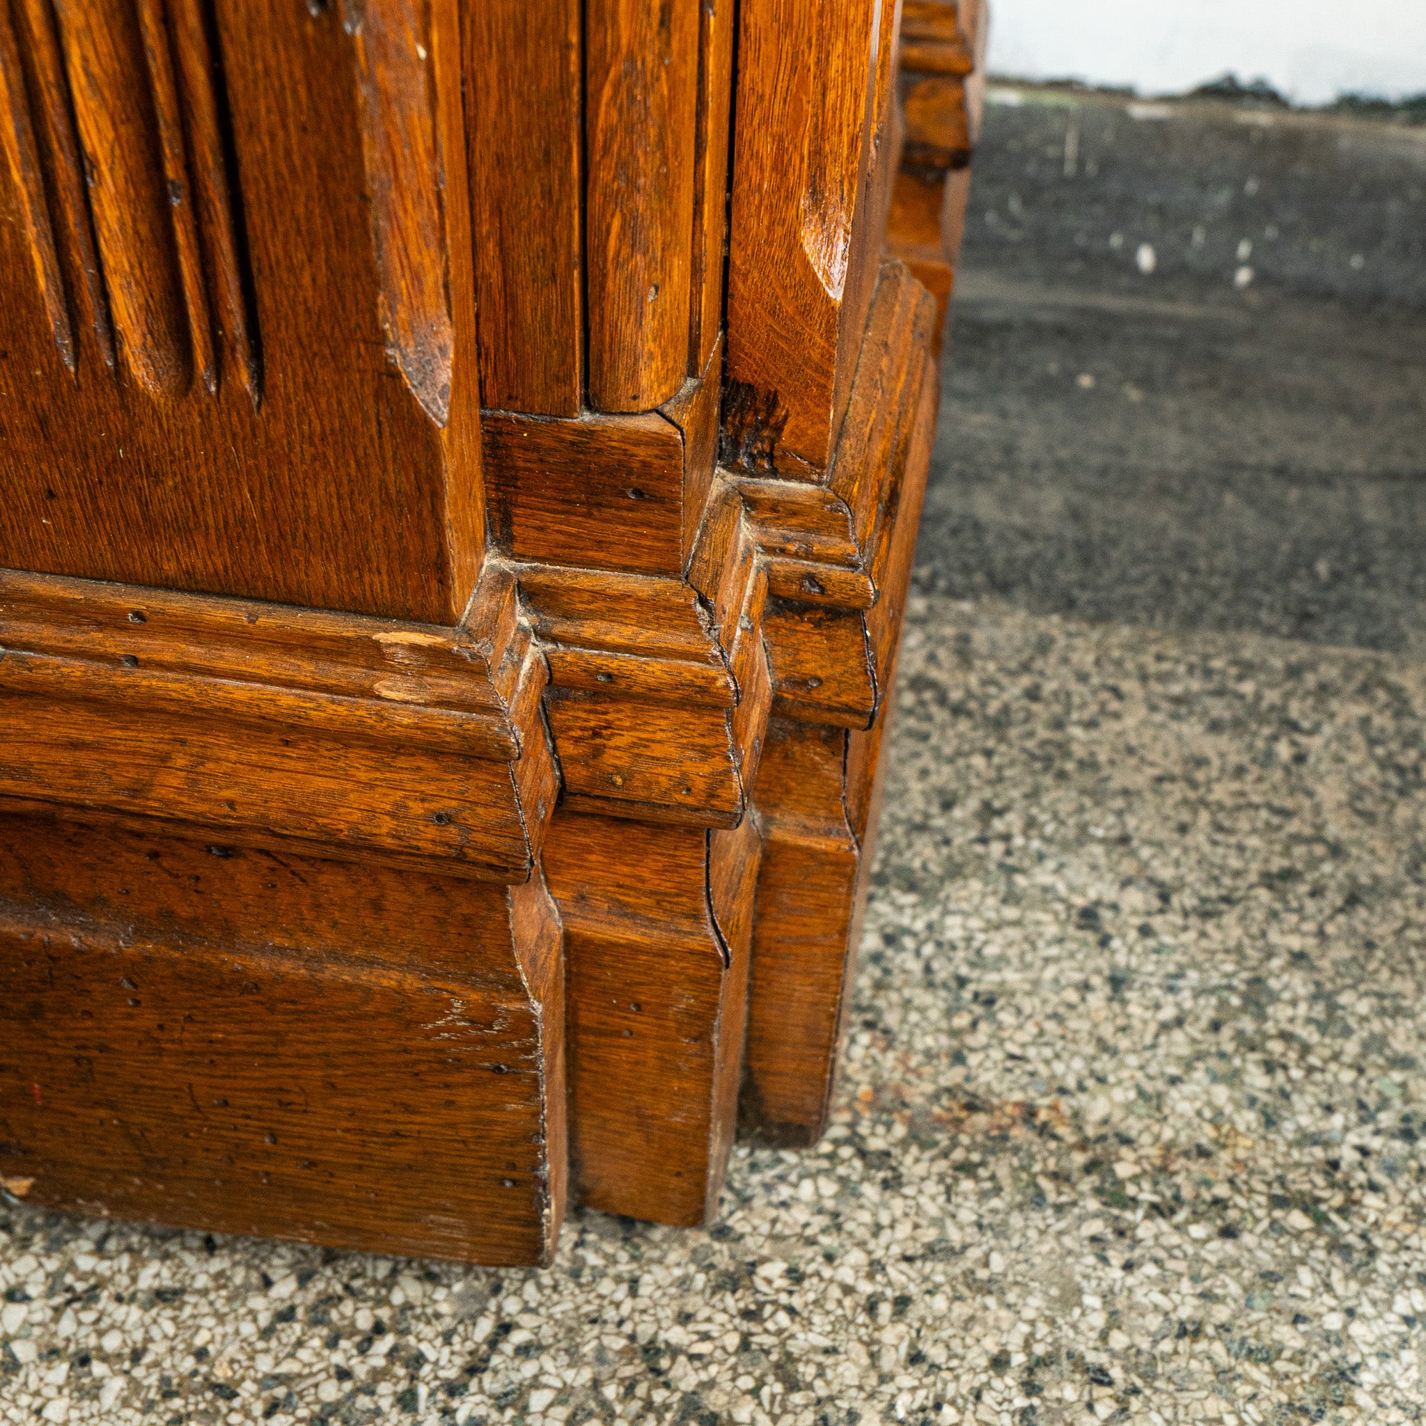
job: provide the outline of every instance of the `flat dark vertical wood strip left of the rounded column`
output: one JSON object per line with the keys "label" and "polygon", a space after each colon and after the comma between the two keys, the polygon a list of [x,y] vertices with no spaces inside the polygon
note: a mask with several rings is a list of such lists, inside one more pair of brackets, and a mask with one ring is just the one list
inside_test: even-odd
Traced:
{"label": "flat dark vertical wood strip left of the rounded column", "polygon": [[583,394],[578,0],[463,9],[483,404],[579,415]]}

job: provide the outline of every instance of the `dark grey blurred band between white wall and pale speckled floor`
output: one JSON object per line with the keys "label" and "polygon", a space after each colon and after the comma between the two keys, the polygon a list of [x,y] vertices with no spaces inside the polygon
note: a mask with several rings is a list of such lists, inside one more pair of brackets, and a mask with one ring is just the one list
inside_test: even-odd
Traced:
{"label": "dark grey blurred band between white wall and pale speckled floor", "polygon": [[1001,87],[951,342],[924,590],[1426,653],[1426,125]]}

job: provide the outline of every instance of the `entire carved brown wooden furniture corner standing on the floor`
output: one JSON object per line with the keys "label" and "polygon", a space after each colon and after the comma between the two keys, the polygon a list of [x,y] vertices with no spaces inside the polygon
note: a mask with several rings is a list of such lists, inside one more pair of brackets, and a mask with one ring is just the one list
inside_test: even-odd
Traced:
{"label": "entire carved brown wooden furniture corner standing on the floor", "polygon": [[816,1139],[984,36],[0,0],[31,1202],[538,1263]]}

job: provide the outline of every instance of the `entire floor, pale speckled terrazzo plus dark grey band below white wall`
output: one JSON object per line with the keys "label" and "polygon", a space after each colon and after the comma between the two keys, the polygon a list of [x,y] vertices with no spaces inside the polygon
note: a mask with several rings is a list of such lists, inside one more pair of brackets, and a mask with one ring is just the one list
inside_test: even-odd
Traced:
{"label": "entire floor, pale speckled terrazzo plus dark grey band below white wall", "polygon": [[0,1422],[1426,1417],[1426,144],[1032,98],[827,1139],[539,1272],[0,1204]]}

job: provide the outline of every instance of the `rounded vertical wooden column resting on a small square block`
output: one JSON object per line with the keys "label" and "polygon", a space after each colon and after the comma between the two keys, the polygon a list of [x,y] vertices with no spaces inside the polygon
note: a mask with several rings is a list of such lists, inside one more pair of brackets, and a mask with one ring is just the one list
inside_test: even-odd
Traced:
{"label": "rounded vertical wooden column resting on a small square block", "polygon": [[689,374],[699,0],[586,0],[589,404],[652,411]]}

